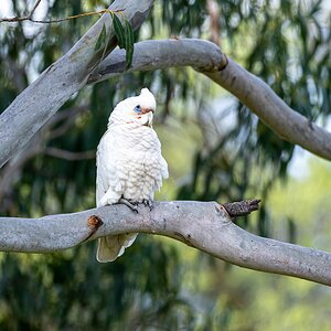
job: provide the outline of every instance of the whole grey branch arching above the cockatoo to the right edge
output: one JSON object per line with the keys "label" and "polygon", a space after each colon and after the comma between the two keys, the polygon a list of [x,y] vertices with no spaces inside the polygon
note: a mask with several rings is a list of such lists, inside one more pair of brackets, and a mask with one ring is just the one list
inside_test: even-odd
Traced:
{"label": "whole grey branch arching above the cockatoo to the right edge", "polygon": [[[331,134],[291,109],[261,79],[226,56],[213,43],[202,40],[145,41],[135,45],[134,71],[192,66],[235,95],[281,139],[331,160]],[[125,72],[125,52],[115,50],[88,83]]]}

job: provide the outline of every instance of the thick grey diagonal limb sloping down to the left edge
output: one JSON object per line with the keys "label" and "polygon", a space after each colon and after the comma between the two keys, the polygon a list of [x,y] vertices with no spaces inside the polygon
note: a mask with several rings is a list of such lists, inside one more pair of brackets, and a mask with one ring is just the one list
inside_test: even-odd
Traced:
{"label": "thick grey diagonal limb sloping down to the left edge", "polygon": [[[122,13],[137,29],[146,19],[152,0],[115,0],[109,10]],[[122,20],[121,15],[118,15]],[[0,115],[0,168],[18,152],[57,109],[85,84],[100,62],[105,45],[96,49],[103,26],[109,36],[107,52],[116,46],[109,13],[103,17],[60,60],[46,68]]]}

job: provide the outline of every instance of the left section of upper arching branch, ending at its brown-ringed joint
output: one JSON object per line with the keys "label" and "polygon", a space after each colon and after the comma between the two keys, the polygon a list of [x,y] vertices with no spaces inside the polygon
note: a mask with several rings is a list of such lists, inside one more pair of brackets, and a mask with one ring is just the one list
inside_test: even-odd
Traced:
{"label": "left section of upper arching branch, ending at its brown-ringed joint", "polygon": [[126,71],[125,50],[113,51],[89,76],[98,83],[125,72],[156,71],[192,66],[200,72],[218,72],[227,64],[226,56],[215,44],[199,39],[149,40],[135,44],[131,67]]}

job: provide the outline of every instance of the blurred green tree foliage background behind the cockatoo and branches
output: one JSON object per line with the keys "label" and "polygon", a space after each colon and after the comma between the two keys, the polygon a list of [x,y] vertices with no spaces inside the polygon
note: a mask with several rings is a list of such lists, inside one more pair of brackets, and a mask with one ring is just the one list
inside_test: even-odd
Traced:
{"label": "blurred green tree foliage background behind the cockatoo and branches", "polygon": [[[1,17],[34,1],[6,0]],[[44,0],[35,17],[63,18],[107,1]],[[26,8],[28,6],[28,8]],[[293,109],[328,125],[330,3],[156,1],[136,40],[202,38],[266,81]],[[1,23],[0,111],[97,20]],[[189,54],[188,54],[189,56]],[[158,200],[261,196],[239,225],[331,249],[331,168],[280,140],[255,115],[191,68],[126,74],[85,87],[0,172],[1,215],[42,216],[95,205],[95,150],[113,107],[148,86],[170,167]],[[329,121],[330,122],[330,121]],[[295,173],[293,178],[291,173]],[[290,207],[289,207],[290,206]],[[47,255],[0,255],[2,330],[327,330],[330,290],[241,270],[167,238],[140,235],[111,264],[95,243]],[[329,329],[328,329],[329,330]]]}

